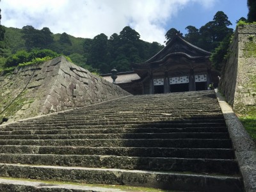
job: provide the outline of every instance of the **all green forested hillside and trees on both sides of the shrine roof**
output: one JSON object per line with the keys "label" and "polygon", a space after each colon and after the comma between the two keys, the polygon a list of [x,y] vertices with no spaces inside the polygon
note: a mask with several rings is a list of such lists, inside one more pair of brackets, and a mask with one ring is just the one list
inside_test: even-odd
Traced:
{"label": "all green forested hillside and trees on both sides of the shrine roof", "polygon": [[[241,18],[241,20],[245,20]],[[228,46],[233,29],[223,12],[217,12],[213,19],[197,29],[188,26],[183,35],[175,28],[167,31],[166,44],[174,35],[180,35],[193,45],[212,52],[212,67],[220,71],[228,54]],[[73,63],[92,72],[109,73],[112,68],[118,72],[132,70],[131,63],[141,63],[163,49],[157,42],[145,42],[140,34],[129,26],[120,33],[106,36],[100,33],[94,38],[77,38],[67,33],[53,34],[47,27],[35,29],[24,26],[22,29],[5,28],[0,30],[0,70],[10,69],[20,63],[36,63],[49,60],[60,54]]]}

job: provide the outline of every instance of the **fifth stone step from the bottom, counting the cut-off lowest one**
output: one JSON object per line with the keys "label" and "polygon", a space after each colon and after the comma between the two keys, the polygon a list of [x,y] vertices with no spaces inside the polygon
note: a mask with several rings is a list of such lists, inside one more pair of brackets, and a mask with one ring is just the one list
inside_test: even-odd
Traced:
{"label": "fifth stone step from the bottom, counting the cut-off lowest one", "polygon": [[232,148],[230,140],[218,139],[154,139],[154,140],[0,140],[0,145],[83,146],[83,147],[171,147]]}

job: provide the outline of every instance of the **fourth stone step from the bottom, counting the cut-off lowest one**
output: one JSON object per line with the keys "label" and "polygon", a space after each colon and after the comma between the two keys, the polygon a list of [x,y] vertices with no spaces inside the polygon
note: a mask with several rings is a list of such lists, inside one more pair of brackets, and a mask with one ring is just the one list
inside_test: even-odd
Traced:
{"label": "fourth stone step from the bottom, counting the cut-off lowest one", "polygon": [[0,145],[0,153],[235,159],[234,152],[230,148],[53,147],[33,145]]}

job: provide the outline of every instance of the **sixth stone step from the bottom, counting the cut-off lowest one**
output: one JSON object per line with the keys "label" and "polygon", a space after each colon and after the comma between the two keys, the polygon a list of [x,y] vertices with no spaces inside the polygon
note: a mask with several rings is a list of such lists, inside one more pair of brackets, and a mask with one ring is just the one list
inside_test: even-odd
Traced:
{"label": "sixth stone step from the bottom, counting the cut-off lowest one", "polygon": [[122,134],[17,134],[0,135],[0,140],[73,140],[73,139],[228,139],[227,132],[173,132],[173,133],[122,133]]}

